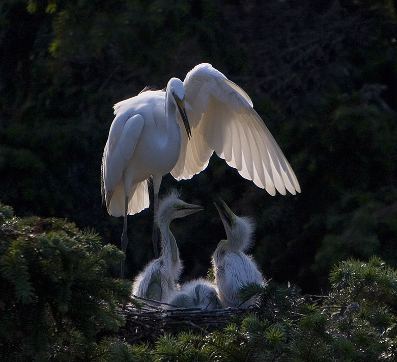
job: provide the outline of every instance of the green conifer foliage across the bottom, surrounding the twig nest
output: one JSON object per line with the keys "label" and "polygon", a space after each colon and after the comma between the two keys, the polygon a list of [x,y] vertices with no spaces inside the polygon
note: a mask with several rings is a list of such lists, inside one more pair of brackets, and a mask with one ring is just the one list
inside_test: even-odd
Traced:
{"label": "green conifer foliage across the bottom, surrounding the twig nest", "polygon": [[[253,307],[186,309],[194,323],[178,327],[180,309],[147,311],[134,301],[122,308],[131,282],[108,277],[107,267],[123,254],[95,231],[20,219],[3,204],[0,218],[2,361],[397,360],[397,272],[378,257],[334,266],[328,295],[270,280],[241,290],[242,300],[254,296]],[[141,338],[120,328],[126,321],[130,333],[146,326]]]}

